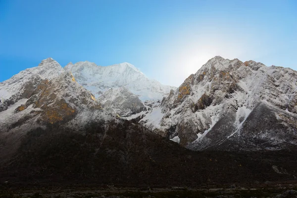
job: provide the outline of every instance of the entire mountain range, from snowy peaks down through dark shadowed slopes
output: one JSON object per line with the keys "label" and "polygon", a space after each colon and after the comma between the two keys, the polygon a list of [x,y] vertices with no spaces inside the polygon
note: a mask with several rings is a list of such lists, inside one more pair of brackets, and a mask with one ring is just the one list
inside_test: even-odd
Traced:
{"label": "entire mountain range, from snowy peaks down through dark shadowed slopes", "polygon": [[296,145],[290,68],[215,56],[175,88],[129,63],[47,58],[0,83],[1,181],[292,180]]}

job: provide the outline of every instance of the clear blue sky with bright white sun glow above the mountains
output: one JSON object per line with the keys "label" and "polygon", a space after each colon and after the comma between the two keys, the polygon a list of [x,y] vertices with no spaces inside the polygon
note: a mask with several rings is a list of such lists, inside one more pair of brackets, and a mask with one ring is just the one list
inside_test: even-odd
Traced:
{"label": "clear blue sky with bright white sun glow above the mountains", "polygon": [[0,0],[0,82],[52,57],[179,86],[216,55],[297,70],[297,0]]}

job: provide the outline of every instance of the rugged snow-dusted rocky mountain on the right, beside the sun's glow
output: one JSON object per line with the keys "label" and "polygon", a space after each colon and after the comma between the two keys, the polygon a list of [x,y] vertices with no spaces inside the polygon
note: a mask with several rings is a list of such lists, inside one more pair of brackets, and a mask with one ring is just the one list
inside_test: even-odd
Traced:
{"label": "rugged snow-dusted rocky mountain on the right, beside the sun's glow", "polygon": [[193,150],[287,148],[297,145],[296,83],[290,68],[216,56],[140,123]]}

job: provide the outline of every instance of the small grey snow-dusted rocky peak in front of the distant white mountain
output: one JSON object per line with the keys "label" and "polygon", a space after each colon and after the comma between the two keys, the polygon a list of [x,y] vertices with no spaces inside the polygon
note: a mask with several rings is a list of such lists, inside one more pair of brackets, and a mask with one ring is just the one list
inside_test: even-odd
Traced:
{"label": "small grey snow-dusted rocky peak in front of the distant white mountain", "polygon": [[143,102],[126,88],[111,88],[104,92],[98,100],[102,103],[104,110],[116,113],[121,117],[128,117],[147,110]]}

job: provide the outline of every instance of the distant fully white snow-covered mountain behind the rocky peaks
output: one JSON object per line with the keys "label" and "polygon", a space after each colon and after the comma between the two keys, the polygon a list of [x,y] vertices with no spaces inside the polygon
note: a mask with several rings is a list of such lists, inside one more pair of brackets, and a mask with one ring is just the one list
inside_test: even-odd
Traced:
{"label": "distant fully white snow-covered mountain behind the rocky peaks", "polygon": [[166,97],[172,86],[150,80],[134,65],[124,62],[110,66],[98,66],[84,61],[68,63],[66,71],[71,71],[78,83],[91,91],[96,98],[110,88],[124,87],[142,101]]}

